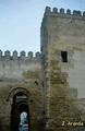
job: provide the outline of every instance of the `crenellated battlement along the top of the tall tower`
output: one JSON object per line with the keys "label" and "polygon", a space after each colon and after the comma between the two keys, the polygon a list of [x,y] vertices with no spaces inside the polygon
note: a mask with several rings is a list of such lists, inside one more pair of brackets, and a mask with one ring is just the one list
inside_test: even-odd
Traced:
{"label": "crenellated battlement along the top of the tall tower", "polygon": [[84,12],[77,11],[77,10],[71,11],[70,9],[65,11],[63,8],[61,8],[60,10],[58,10],[57,8],[53,8],[51,10],[50,7],[46,7],[45,14],[59,14],[59,15],[64,14],[64,16],[71,15],[71,16],[77,16],[77,17],[78,16],[85,17],[85,11]]}

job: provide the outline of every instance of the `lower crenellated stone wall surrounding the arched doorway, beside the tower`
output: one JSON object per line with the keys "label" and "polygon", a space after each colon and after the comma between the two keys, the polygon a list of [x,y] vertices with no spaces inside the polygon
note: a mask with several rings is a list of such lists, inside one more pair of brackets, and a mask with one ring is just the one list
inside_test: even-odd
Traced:
{"label": "lower crenellated stone wall surrounding the arched doorway, beside the tower", "polygon": [[40,53],[22,51],[21,56],[14,51],[2,55],[0,51],[0,123],[2,130],[9,131],[11,124],[11,110],[13,97],[17,93],[27,92],[29,109],[29,129],[40,130],[42,123],[42,75]]}

